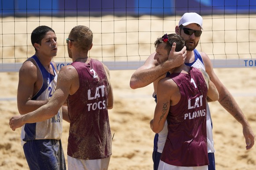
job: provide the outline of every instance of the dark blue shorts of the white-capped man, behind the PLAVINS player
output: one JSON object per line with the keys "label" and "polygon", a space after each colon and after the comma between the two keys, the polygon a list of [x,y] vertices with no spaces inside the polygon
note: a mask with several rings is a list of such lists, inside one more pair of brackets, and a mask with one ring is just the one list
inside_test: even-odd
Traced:
{"label": "dark blue shorts of the white-capped man, behind the PLAVINS player", "polygon": [[[152,158],[153,158],[153,162],[154,162],[154,170],[158,169],[161,154],[162,153],[160,153],[160,152],[153,151]],[[214,156],[214,153],[208,153],[208,160],[209,160],[208,170],[215,170],[215,156]]]}

